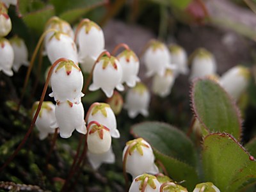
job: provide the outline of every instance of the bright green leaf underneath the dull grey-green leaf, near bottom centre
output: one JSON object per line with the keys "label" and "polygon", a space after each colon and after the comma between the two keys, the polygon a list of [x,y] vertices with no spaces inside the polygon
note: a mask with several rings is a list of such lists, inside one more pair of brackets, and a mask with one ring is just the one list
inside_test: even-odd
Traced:
{"label": "bright green leaf underneath the dull grey-green leaf, near bottom centre", "polygon": [[192,191],[193,188],[195,188],[196,184],[199,182],[198,174],[195,168],[173,157],[161,154],[161,152],[157,151],[155,148],[154,154],[156,159],[161,161],[169,176],[173,180],[177,182],[185,180],[185,182],[181,185],[188,188],[189,191]]}

